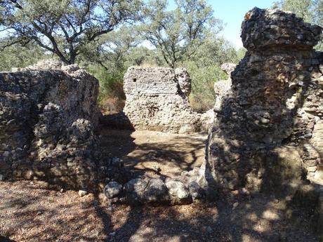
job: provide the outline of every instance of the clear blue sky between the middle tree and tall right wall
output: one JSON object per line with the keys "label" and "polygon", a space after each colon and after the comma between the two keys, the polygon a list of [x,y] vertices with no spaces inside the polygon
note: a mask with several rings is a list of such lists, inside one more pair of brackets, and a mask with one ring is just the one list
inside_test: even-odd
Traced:
{"label": "clear blue sky between the middle tree and tall right wall", "polygon": [[[206,0],[213,8],[214,16],[225,23],[220,35],[233,43],[236,48],[242,47],[240,38],[241,22],[244,14],[253,7],[270,8],[274,0]],[[173,1],[169,0],[170,6]]]}

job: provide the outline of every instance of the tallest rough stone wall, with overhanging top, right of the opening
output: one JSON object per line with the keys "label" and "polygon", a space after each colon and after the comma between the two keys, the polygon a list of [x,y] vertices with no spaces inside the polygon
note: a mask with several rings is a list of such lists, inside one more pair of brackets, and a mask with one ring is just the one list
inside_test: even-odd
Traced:
{"label": "tallest rough stone wall, with overhanging top, right of the opening", "polygon": [[253,8],[248,50],[216,110],[206,161],[220,187],[274,189],[322,166],[322,28],[294,14]]}

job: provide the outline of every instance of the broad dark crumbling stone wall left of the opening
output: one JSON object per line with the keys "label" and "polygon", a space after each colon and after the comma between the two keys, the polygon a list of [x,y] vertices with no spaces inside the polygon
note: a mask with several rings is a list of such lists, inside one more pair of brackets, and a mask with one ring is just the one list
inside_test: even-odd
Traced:
{"label": "broad dark crumbling stone wall left of the opening", "polygon": [[50,60],[14,71],[0,73],[1,175],[96,186],[98,80]]}

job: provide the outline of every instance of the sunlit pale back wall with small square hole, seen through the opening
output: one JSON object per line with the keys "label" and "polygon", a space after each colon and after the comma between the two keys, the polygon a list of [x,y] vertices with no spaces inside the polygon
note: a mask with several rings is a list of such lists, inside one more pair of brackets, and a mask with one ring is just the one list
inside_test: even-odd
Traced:
{"label": "sunlit pale back wall with small square hole, seen through the opening", "polygon": [[200,131],[207,118],[190,107],[190,85],[184,68],[130,67],[124,75],[124,114],[137,130]]}

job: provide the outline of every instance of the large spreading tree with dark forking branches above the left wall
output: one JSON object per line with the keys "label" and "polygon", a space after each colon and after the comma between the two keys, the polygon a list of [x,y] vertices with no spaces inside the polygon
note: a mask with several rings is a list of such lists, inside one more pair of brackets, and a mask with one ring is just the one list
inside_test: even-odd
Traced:
{"label": "large spreading tree with dark forking branches above the left wall", "polygon": [[0,27],[14,43],[36,43],[67,64],[81,48],[123,22],[140,18],[141,0],[3,0]]}

